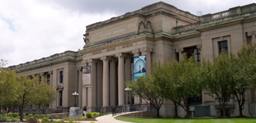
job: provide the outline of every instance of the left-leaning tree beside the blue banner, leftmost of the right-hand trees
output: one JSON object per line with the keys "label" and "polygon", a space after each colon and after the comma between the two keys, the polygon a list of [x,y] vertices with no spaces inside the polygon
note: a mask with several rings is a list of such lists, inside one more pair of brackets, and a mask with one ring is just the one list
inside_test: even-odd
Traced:
{"label": "left-leaning tree beside the blue banner, leftmost of the right-hand trees", "polygon": [[158,82],[153,75],[147,75],[140,77],[135,82],[128,81],[126,85],[135,92],[135,95],[140,96],[146,102],[150,100],[150,103],[157,111],[157,117],[160,117],[159,110],[164,103],[164,98],[159,94]]}

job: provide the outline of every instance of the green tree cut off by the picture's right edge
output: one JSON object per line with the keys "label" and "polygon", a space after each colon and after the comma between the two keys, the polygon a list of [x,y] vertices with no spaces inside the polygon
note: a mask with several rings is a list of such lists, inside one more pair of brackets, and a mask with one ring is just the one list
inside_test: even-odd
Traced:
{"label": "green tree cut off by the picture's right edge", "polygon": [[242,45],[242,48],[237,52],[237,57],[233,59],[235,62],[232,66],[234,71],[231,89],[233,89],[233,95],[237,99],[239,104],[239,116],[243,116],[245,92],[251,89],[252,84],[255,82],[256,76],[256,48],[255,44],[248,46]]}

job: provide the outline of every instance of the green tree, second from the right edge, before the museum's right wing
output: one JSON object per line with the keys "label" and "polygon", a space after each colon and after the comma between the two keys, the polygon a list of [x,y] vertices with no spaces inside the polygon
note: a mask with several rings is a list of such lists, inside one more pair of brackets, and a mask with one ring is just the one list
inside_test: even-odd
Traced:
{"label": "green tree, second from the right edge, before the museum's right wing", "polygon": [[205,91],[212,98],[220,103],[220,107],[225,116],[225,107],[229,102],[230,95],[233,93],[232,84],[235,81],[233,78],[234,69],[232,68],[235,62],[235,55],[230,53],[230,56],[221,52],[218,57],[214,57],[214,62],[203,61],[203,78]]}

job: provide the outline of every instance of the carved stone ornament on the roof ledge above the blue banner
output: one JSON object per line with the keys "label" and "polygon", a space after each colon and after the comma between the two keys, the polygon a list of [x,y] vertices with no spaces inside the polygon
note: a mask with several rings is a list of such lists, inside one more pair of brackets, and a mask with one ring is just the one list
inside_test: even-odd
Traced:
{"label": "carved stone ornament on the roof ledge above the blue banner", "polygon": [[150,21],[140,21],[139,27],[138,27],[138,34],[141,33],[151,33],[154,34],[152,25]]}

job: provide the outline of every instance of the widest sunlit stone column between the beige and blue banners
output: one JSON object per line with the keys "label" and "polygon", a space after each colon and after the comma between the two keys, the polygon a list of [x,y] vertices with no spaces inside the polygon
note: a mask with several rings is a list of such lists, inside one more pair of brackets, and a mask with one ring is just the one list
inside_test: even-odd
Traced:
{"label": "widest sunlit stone column between the beige and blue banners", "polygon": [[125,57],[123,53],[117,53],[118,57],[118,106],[125,104]]}

